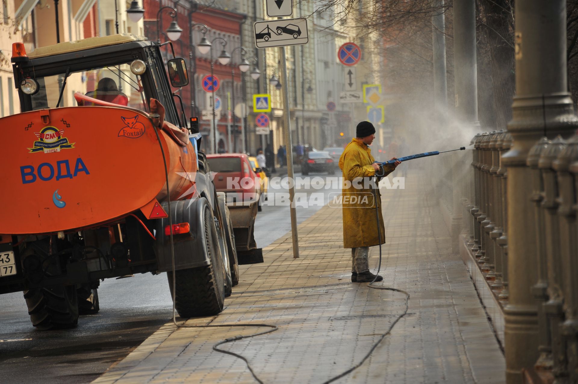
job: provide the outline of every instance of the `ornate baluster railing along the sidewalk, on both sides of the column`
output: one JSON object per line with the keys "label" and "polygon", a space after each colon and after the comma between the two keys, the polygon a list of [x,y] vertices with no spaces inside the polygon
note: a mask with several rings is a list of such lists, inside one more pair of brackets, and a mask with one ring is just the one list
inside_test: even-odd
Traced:
{"label": "ornate baluster railing along the sidewalk, on both sides of the column", "polygon": [[[509,299],[507,169],[502,155],[510,151],[507,131],[472,139],[472,178],[462,184],[463,223],[467,244],[496,299]],[[533,221],[525,241],[536,249],[529,257],[538,271],[528,295],[537,304],[539,352],[536,369],[578,382],[578,136],[543,137],[527,156],[531,186],[528,209]],[[515,186],[518,188],[526,186]],[[512,188],[512,185],[510,185]],[[506,345],[507,348],[507,345]]]}

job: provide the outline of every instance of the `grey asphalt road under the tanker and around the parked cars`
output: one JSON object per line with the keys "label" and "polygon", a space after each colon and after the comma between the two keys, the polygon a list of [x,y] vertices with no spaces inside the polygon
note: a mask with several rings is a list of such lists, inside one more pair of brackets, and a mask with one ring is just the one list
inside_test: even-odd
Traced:
{"label": "grey asphalt road under the tanker and around the parked cars", "polygon": [[[317,181],[323,185],[327,176],[310,175],[316,176],[321,176]],[[339,192],[339,189],[321,188],[302,188],[296,192],[306,193],[307,199],[312,193],[321,193],[318,196],[323,203],[327,203],[329,193]],[[270,187],[269,192],[288,191]],[[269,196],[273,201],[274,195]],[[298,207],[298,222],[322,206],[314,202],[314,206]],[[290,230],[288,206],[266,205],[257,215],[255,238],[259,247],[266,247]],[[101,283],[98,294],[101,308],[98,314],[81,316],[75,329],[56,331],[32,327],[21,292],[3,295],[0,298],[0,382],[91,382],[172,318],[171,295],[164,273],[107,279]]]}

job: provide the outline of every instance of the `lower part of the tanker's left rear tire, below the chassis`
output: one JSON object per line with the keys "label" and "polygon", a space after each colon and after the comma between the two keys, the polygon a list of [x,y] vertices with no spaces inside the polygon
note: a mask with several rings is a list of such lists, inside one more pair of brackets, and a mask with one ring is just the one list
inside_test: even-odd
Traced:
{"label": "lower part of the tanker's left rear tire, below the chassis", "polygon": [[24,291],[32,325],[38,329],[65,329],[78,323],[78,302],[73,285]]}

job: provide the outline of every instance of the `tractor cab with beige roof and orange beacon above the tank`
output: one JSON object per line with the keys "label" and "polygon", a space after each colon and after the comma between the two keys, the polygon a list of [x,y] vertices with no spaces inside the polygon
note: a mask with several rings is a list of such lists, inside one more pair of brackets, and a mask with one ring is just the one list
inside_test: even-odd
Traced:
{"label": "tractor cab with beige roof and orange beacon above the tank", "polygon": [[[150,99],[156,99],[165,107],[166,121],[187,126],[167,81],[175,87],[188,84],[184,60],[169,60],[167,76],[160,46],[145,38],[121,33],[40,47],[28,55],[18,43],[13,50],[23,112],[112,103],[149,113]],[[75,94],[95,100],[79,101]]]}

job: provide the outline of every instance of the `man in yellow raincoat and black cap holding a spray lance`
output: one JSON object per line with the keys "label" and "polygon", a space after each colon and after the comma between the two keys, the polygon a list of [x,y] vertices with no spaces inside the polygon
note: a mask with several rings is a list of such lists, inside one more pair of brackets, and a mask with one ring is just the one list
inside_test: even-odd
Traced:
{"label": "man in yellow raincoat and black cap holding a spray lance", "polygon": [[[376,275],[369,271],[369,247],[386,242],[379,188],[372,176],[376,172],[377,176],[387,176],[401,162],[385,165],[383,169],[374,163],[369,144],[375,139],[375,128],[369,121],[357,125],[356,136],[339,158],[343,172],[343,248],[351,248],[351,281],[370,282]],[[376,281],[381,280],[383,277],[377,276]]]}

